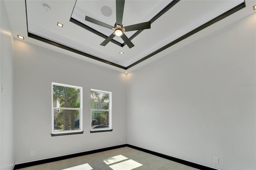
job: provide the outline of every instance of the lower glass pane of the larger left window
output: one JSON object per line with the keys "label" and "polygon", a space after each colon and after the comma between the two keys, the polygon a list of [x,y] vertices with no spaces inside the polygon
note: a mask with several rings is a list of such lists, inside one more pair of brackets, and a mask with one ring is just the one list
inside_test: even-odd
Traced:
{"label": "lower glass pane of the larger left window", "polygon": [[80,111],[54,109],[54,132],[80,129]]}

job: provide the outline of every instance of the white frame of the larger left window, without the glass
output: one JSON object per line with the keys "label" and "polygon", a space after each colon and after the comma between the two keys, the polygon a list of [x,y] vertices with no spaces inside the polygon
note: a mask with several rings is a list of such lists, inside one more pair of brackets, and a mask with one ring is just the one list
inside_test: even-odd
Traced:
{"label": "white frame of the larger left window, without the glass", "polygon": [[[75,89],[80,89],[80,108],[66,108],[66,107],[53,107],[53,86],[62,86],[62,87],[70,87],[70,88],[75,88]],[[74,85],[66,85],[66,84],[61,84],[61,83],[54,83],[52,82],[52,134],[59,134],[59,135],[64,135],[64,134],[76,134],[76,133],[82,133],[83,132],[83,123],[82,123],[82,106],[83,106],[83,87],[80,86],[74,86]],[[64,130],[60,132],[54,132],[54,109],[64,109],[64,110],[78,110],[79,111],[79,130]],[[58,135],[56,135],[58,136]]]}

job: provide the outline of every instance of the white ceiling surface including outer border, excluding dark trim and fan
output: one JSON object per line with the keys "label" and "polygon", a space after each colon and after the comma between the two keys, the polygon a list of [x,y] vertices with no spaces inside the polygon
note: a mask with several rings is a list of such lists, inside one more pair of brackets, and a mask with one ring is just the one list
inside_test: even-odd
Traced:
{"label": "white ceiling surface including outer border, excluding dark trim and fan", "polygon": [[[122,24],[123,26],[129,26],[141,22],[148,22],[170,2],[171,0],[126,0]],[[136,61],[150,55],[164,45],[173,42],[184,34],[200,27],[243,2],[244,0],[180,0],[155,20],[151,24],[150,29],[143,30],[133,38],[131,41],[135,46],[130,49],[127,45],[121,47],[112,42],[109,42],[106,46],[101,46],[100,43],[104,41],[104,38],[70,22],[70,18],[72,17],[94,30],[109,36],[113,32],[112,30],[85,21],[85,16],[114,26],[116,22],[115,0],[27,0],[26,3],[25,0],[10,0],[5,1],[5,4],[14,38],[17,38],[17,35],[21,35],[25,37],[23,41],[92,63],[104,65],[118,71],[124,71],[127,69],[126,67],[129,67]],[[50,10],[45,10],[43,7],[44,4],[47,4]],[[246,0],[245,8],[163,51],[160,50],[160,52],[152,55],[149,59],[133,67],[129,67],[128,71],[137,69],[190,42],[198,40],[236,20],[252,14],[255,12],[252,7],[253,5],[256,5],[255,0]],[[112,15],[104,16],[101,12],[103,6],[110,7]],[[58,27],[57,22],[64,24],[63,28]],[[82,53],[104,59],[120,67],[109,65],[107,62],[102,63],[101,61],[81,55],[81,53],[70,52],[60,47],[35,40],[34,38],[28,37],[28,32],[71,47]],[[125,32],[124,34],[130,38],[135,32]],[[115,37],[115,40],[123,43],[120,37]],[[123,51],[124,54],[121,55],[119,53],[120,51]]]}

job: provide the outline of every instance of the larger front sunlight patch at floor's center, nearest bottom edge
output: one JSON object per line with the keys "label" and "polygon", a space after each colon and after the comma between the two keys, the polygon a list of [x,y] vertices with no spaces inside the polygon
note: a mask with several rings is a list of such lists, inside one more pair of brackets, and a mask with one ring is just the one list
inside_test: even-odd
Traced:
{"label": "larger front sunlight patch at floor's center, nearest bottom edge", "polygon": [[142,164],[130,159],[109,167],[112,168],[112,170],[132,170],[134,168],[138,168],[139,166],[142,166]]}

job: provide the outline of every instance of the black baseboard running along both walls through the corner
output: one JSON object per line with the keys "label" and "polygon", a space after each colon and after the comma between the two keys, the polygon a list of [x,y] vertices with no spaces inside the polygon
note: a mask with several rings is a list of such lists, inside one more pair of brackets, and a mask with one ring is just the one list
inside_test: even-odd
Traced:
{"label": "black baseboard running along both walls through the corner", "polygon": [[46,158],[46,159],[41,159],[41,160],[34,160],[34,161],[31,161],[31,162],[24,162],[24,163],[14,164],[12,169],[17,170],[17,169],[26,168],[26,167],[29,167],[29,166],[46,164],[46,163],[55,162],[55,161],[58,161],[58,160],[65,160],[65,159],[69,159],[69,158],[84,156],[84,155],[88,155],[88,154],[94,154],[94,153],[103,152],[103,151],[112,150],[112,149],[117,149],[117,148],[122,148],[122,147],[126,147],[126,146],[128,146],[130,148],[140,150],[142,152],[146,152],[146,153],[149,153],[149,154],[159,156],[161,158],[172,160],[172,161],[178,162],[180,164],[191,166],[193,168],[197,168],[197,169],[200,169],[200,170],[218,170],[218,169],[210,168],[208,166],[204,166],[204,165],[201,165],[201,164],[196,164],[194,162],[189,162],[187,160],[182,160],[180,158],[175,158],[173,156],[168,156],[168,155],[165,155],[165,154],[154,152],[152,150],[147,150],[147,149],[144,149],[144,148],[140,148],[138,146],[134,146],[134,145],[131,145],[131,144],[121,144],[121,145],[117,145],[117,146],[110,146],[110,147],[106,147],[106,148],[89,150],[89,151],[85,151],[85,152],[68,154],[68,155],[64,155],[64,156],[56,156],[56,157],[53,157],[53,158]]}

